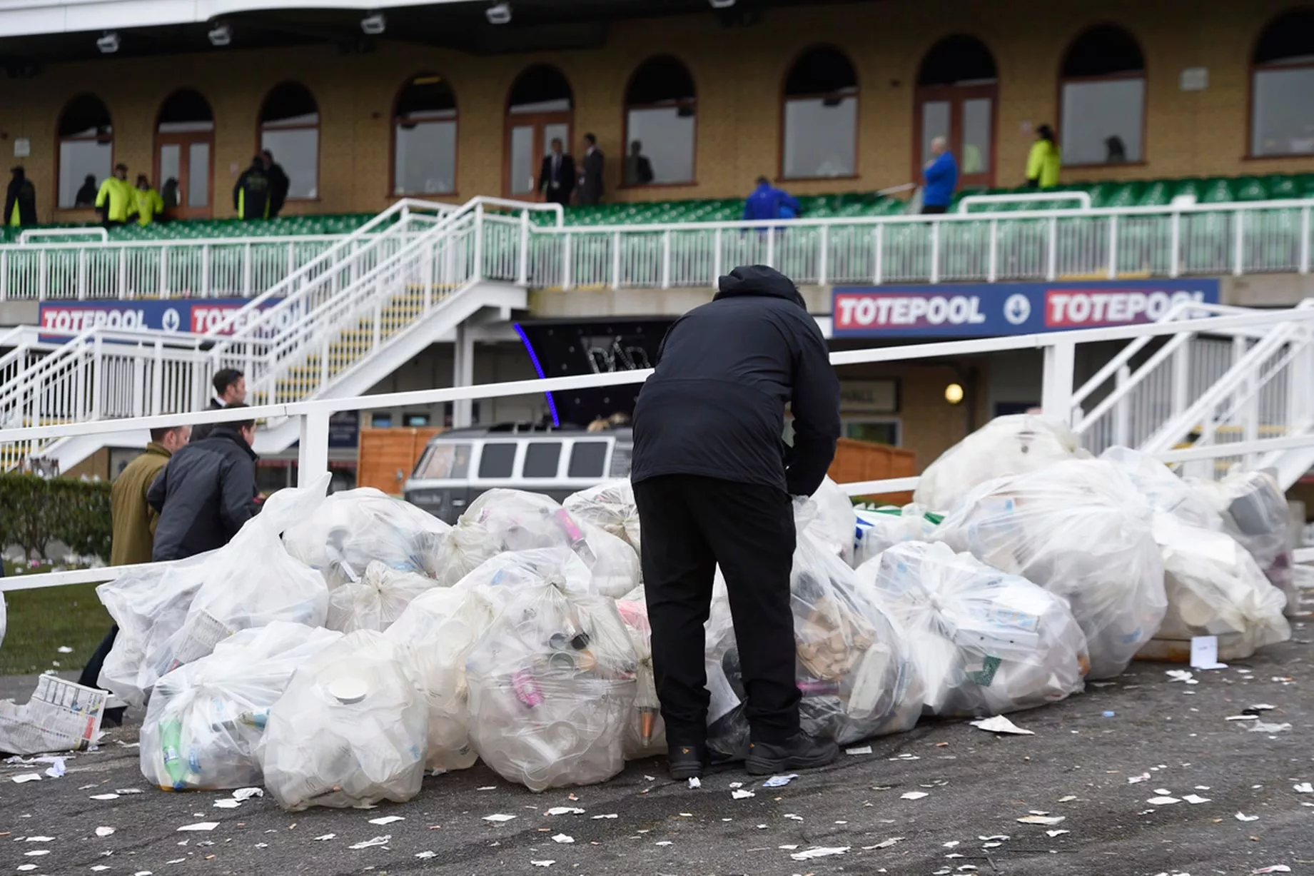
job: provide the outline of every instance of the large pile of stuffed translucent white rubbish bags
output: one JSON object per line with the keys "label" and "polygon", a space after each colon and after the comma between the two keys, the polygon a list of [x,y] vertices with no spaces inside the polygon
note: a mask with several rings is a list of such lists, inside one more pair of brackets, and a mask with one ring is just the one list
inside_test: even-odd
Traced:
{"label": "large pile of stuffed translucent white rubbish bags", "polygon": [[[489,491],[455,526],[326,489],[280,491],[227,546],[97,588],[120,626],[101,684],[147,709],[152,783],[263,781],[289,810],[365,806],[477,760],[537,792],[665,751],[628,481],[562,504]],[[796,500],[790,604],[812,734],[850,744],[922,716],[1041,706],[1155,637],[1244,654],[1290,637],[1285,505],[1264,472],[1197,484],[1126,449],[1093,459],[1045,417],[1003,417],[933,463],[916,499],[854,510],[827,481]],[[719,571],[706,662],[710,747],[744,758]]]}

